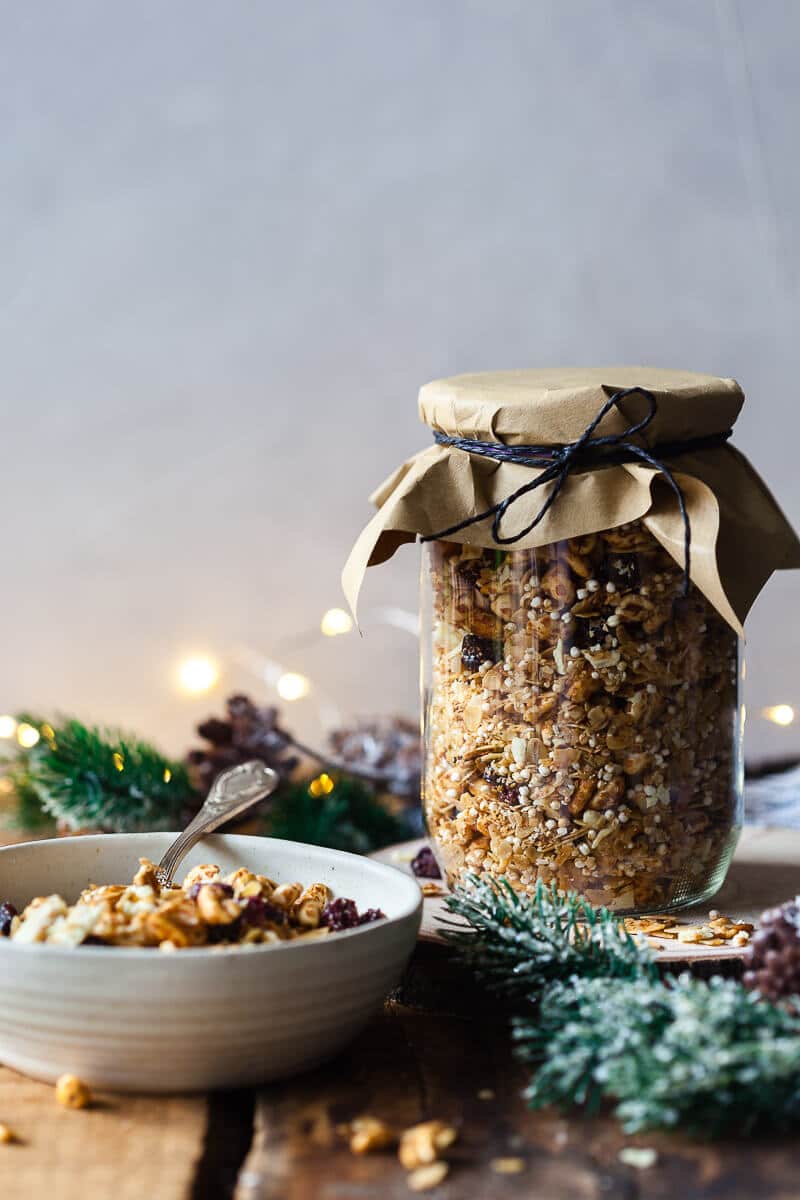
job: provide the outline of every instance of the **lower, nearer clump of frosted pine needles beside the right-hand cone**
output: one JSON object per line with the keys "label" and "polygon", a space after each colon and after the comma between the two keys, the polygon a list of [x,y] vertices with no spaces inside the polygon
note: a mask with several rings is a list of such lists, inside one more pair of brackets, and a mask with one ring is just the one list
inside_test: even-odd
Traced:
{"label": "lower, nearer clump of frosted pine needles beside the right-hand cone", "polygon": [[800,1123],[800,1007],[784,1010],[733,980],[573,978],[516,1018],[513,1037],[536,1068],[533,1108],[593,1111],[610,1099],[627,1133]]}

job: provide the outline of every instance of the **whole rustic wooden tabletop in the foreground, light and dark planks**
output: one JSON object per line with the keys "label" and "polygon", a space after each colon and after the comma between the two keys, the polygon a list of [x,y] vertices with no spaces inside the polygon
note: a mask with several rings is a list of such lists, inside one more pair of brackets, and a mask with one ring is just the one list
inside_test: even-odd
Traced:
{"label": "whole rustic wooden tabletop in the foreground, light and dark planks", "polygon": [[[608,1117],[528,1111],[524,1080],[503,1015],[447,950],[421,942],[350,1049],[289,1082],[207,1098],[101,1094],[90,1110],[66,1111],[52,1087],[0,1067],[0,1122],[20,1139],[0,1145],[0,1200],[409,1198],[393,1152],[356,1158],[337,1134],[362,1112],[398,1127],[458,1126],[450,1176],[425,1193],[433,1200],[800,1200],[796,1139],[626,1138]],[[627,1166],[625,1146],[657,1160]],[[524,1171],[499,1175],[498,1158],[522,1159]]]}

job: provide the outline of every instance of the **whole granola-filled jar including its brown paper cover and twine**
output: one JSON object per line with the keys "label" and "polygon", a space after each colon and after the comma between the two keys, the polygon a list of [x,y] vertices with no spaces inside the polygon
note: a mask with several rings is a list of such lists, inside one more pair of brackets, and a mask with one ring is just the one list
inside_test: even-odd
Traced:
{"label": "whole granola-filled jar including its brown paper cover and twine", "polygon": [[741,622],[800,547],[727,439],[730,379],[499,372],[422,389],[435,445],[345,570],[421,535],[423,812],[449,883],[620,912],[711,896],[742,820]]}

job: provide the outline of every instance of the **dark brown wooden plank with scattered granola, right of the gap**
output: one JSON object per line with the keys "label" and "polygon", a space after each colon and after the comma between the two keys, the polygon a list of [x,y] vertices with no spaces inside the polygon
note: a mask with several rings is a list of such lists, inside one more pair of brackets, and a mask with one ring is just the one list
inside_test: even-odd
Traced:
{"label": "dark brown wooden plank with scattered granola, right of the gap", "polygon": [[[452,1121],[459,1140],[434,1200],[759,1200],[796,1198],[795,1141],[702,1144],[678,1135],[625,1136],[610,1117],[569,1120],[529,1111],[525,1069],[510,1055],[503,1025],[461,1015],[389,1008],[336,1063],[265,1088],[257,1138],[236,1200],[408,1200],[393,1151],[350,1154],[338,1122],[366,1111],[399,1127]],[[620,1162],[626,1146],[652,1148],[654,1166]],[[499,1158],[523,1171],[501,1175]]]}

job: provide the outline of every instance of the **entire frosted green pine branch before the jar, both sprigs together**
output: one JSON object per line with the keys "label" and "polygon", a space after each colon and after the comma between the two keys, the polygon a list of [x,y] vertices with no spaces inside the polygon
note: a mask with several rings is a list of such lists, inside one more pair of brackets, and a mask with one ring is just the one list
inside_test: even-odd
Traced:
{"label": "entire frosted green pine branch before the jar, both sprigs together", "polygon": [[800,1000],[782,1008],[729,980],[661,980],[619,917],[542,884],[525,896],[471,878],[447,906],[470,925],[446,935],[462,961],[517,1007],[534,1108],[610,1102],[630,1133],[800,1123]]}

